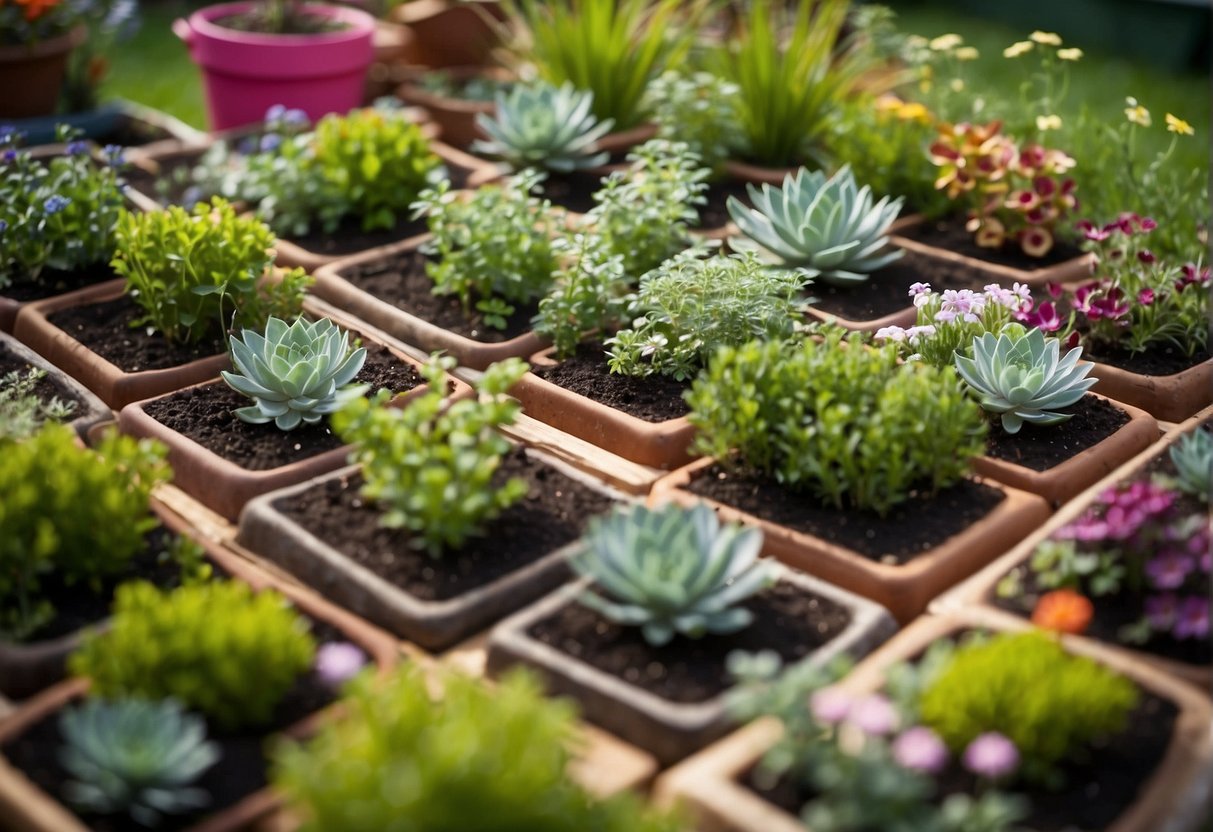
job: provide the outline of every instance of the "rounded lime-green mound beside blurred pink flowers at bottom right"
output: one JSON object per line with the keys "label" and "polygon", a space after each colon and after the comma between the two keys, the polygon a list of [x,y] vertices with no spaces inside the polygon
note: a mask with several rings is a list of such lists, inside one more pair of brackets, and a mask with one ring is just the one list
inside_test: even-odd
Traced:
{"label": "rounded lime-green mound beside blurred pink flowers at bottom right", "polygon": [[921,710],[953,752],[998,731],[1019,750],[1025,776],[1049,780],[1087,743],[1122,730],[1137,702],[1132,682],[1032,632],[957,650]]}

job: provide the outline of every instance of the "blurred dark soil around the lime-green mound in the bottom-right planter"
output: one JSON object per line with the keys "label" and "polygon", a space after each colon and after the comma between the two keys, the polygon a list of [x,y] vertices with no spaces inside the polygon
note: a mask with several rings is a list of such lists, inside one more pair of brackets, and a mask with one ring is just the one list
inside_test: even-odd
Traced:
{"label": "blurred dark soil around the lime-green mound in the bottom-right planter", "polygon": [[[1169,701],[1141,690],[1137,710],[1129,714],[1126,729],[1116,736],[1093,743],[1084,759],[1063,767],[1065,785],[1059,790],[1014,782],[1006,792],[1021,794],[1030,804],[1021,822],[1035,832],[1100,832],[1111,826],[1133,800],[1162,762],[1171,742],[1178,708]],[[756,781],[753,771],[744,782],[768,802],[799,815],[815,793],[791,777],[773,787]],[[950,794],[975,794],[978,782],[955,760],[936,779],[936,798]],[[869,832],[881,832],[870,830]]]}

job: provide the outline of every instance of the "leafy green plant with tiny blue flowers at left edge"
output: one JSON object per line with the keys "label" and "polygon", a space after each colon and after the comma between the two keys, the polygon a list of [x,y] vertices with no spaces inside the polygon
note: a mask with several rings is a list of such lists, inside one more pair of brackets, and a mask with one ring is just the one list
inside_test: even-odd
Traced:
{"label": "leafy green plant with tiny blue flowers at left edge", "polygon": [[38,283],[45,269],[70,272],[104,263],[114,252],[123,209],[120,153],[95,161],[79,131],[59,127],[69,152],[35,159],[17,148],[16,131],[0,131],[0,289]]}

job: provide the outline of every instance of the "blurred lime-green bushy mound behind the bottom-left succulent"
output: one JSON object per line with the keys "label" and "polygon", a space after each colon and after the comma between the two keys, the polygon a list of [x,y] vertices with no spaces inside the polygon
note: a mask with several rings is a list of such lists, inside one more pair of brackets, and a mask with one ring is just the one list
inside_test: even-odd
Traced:
{"label": "blurred lime-green bushy mound behind the bottom-left succulent", "polygon": [[109,629],[86,636],[68,668],[101,696],[172,696],[234,729],[268,723],[314,653],[307,620],[272,589],[135,581],[118,587]]}

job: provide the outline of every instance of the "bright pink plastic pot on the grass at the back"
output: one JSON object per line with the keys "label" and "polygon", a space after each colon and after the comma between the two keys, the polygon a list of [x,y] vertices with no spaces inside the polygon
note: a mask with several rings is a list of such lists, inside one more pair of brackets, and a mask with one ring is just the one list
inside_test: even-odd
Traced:
{"label": "bright pink plastic pot on the grass at the back", "polygon": [[348,24],[340,32],[267,35],[237,32],[213,21],[247,11],[251,2],[207,6],[172,23],[203,69],[211,129],[261,121],[274,104],[297,108],[313,121],[361,103],[375,50],[375,18],[357,8],[304,6],[309,15]]}

